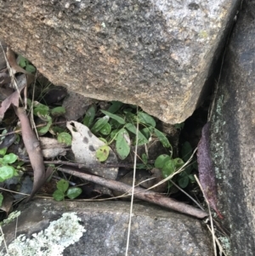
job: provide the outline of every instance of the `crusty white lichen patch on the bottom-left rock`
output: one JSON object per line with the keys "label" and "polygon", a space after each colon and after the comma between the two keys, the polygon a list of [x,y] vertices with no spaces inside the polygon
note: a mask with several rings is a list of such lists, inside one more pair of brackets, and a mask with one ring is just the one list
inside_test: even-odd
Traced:
{"label": "crusty white lichen patch on the bottom-left rock", "polygon": [[[80,218],[76,213],[63,213],[60,219],[50,223],[46,230],[32,235],[18,236],[8,245],[8,256],[60,256],[64,249],[78,242],[82,233],[86,232],[79,224]],[[0,253],[1,254],[1,253]],[[3,255],[3,254],[1,254]]]}

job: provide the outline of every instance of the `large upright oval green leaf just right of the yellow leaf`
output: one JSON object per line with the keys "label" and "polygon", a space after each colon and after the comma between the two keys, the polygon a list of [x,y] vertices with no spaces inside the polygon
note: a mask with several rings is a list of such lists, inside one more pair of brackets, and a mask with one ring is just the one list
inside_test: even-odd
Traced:
{"label": "large upright oval green leaf just right of the yellow leaf", "polygon": [[130,152],[130,139],[127,130],[122,128],[116,137],[116,151],[118,156],[123,160]]}

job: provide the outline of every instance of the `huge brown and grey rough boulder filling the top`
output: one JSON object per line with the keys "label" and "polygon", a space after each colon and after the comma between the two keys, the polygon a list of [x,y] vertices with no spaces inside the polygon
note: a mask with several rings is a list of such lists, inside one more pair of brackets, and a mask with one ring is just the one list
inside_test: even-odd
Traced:
{"label": "huge brown and grey rough boulder filling the top", "polygon": [[183,122],[238,0],[1,1],[1,37],[55,85]]}

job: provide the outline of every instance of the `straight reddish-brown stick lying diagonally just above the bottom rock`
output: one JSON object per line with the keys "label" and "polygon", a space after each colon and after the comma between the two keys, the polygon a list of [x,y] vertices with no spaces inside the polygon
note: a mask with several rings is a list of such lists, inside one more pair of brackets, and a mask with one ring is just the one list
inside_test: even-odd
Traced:
{"label": "straight reddish-brown stick lying diagonally just above the bottom rock", "polygon": [[[132,187],[130,185],[123,184],[122,182],[112,180],[112,179],[105,179],[99,176],[94,176],[91,174],[83,174],[80,172],[77,172],[75,170],[72,170],[70,168],[58,168],[60,171],[71,174],[74,176],[77,176],[82,179],[87,179],[89,181],[92,181],[96,184],[106,186],[110,188],[111,190],[115,191],[121,191],[123,193],[130,193],[132,191]],[[189,214],[191,216],[195,216],[196,218],[203,219],[208,216],[208,214],[201,209],[192,207],[190,205],[187,205],[183,202],[177,202],[173,199],[161,196],[160,194],[153,192],[153,191],[145,191],[142,188],[135,187],[134,188],[134,195],[135,197],[142,199],[147,202],[153,202],[157,205],[160,205],[165,208],[170,208],[175,211],[178,211],[180,213]]]}

